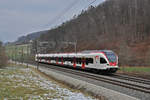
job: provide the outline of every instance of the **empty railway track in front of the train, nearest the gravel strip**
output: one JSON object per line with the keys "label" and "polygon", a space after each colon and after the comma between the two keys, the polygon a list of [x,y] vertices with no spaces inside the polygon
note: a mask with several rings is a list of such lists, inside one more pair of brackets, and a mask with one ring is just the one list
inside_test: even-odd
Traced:
{"label": "empty railway track in front of the train, nearest the gravel strip", "polygon": [[93,79],[93,80],[97,80],[97,81],[102,81],[102,82],[106,82],[109,84],[113,84],[113,85],[117,85],[117,86],[121,86],[121,87],[125,87],[125,88],[129,88],[132,90],[150,94],[150,85],[146,85],[146,84],[140,85],[140,84],[135,84],[135,82],[118,80],[118,78],[112,78],[109,76],[97,75],[97,74],[92,74],[92,73],[87,73],[87,72],[83,72],[83,71],[77,71],[77,70],[72,70],[72,69],[67,69],[67,68],[62,68],[62,67],[49,66],[49,65],[45,65],[45,64],[42,64],[42,65],[44,65],[45,67],[54,69],[54,70],[58,70],[58,68],[59,68],[59,71],[79,75],[81,77],[85,77],[85,78],[89,78],[89,79]]}

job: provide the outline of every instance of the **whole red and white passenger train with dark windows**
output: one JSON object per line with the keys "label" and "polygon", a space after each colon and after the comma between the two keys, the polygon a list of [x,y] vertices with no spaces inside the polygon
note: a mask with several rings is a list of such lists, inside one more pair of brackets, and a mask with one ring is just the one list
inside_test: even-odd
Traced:
{"label": "whole red and white passenger train with dark windows", "polygon": [[103,73],[115,73],[118,70],[118,56],[111,50],[36,54],[35,61]]}

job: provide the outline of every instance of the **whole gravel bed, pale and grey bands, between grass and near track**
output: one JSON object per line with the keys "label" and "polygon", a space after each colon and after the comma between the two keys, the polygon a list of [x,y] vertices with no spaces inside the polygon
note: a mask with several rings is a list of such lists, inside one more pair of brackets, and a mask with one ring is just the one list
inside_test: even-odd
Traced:
{"label": "whole gravel bed, pale and grey bands, between grass and near track", "polygon": [[[46,73],[50,77],[66,84],[73,85],[77,89],[94,93],[99,96],[105,96],[109,100],[149,100],[150,98],[150,94],[59,71],[60,67],[58,70],[54,70],[43,66],[45,65],[42,64],[39,66],[40,71]],[[53,65],[46,66],[57,67]],[[35,65],[32,65],[32,67],[36,68]]]}

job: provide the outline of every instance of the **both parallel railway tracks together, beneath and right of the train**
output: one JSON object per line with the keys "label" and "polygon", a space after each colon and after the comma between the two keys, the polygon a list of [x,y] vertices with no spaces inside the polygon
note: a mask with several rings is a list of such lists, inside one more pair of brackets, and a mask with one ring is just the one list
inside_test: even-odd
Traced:
{"label": "both parallel railway tracks together, beneath and right of the train", "polygon": [[[34,64],[36,63],[34,62]],[[59,71],[62,71],[62,72],[71,73],[71,74],[75,74],[81,77],[85,77],[85,78],[89,78],[89,79],[93,79],[97,81],[102,81],[102,82],[106,82],[109,84],[113,84],[113,85],[121,86],[124,88],[150,94],[150,84],[149,84],[150,80],[136,78],[136,77],[130,78],[130,76],[119,75],[119,74],[114,74],[112,77],[112,76],[106,76],[106,75],[87,73],[84,71],[72,70],[72,69],[64,68],[60,66],[56,67],[56,66],[50,66],[48,64],[40,64],[40,65],[46,68],[54,69],[54,70],[58,70],[59,68]]]}

